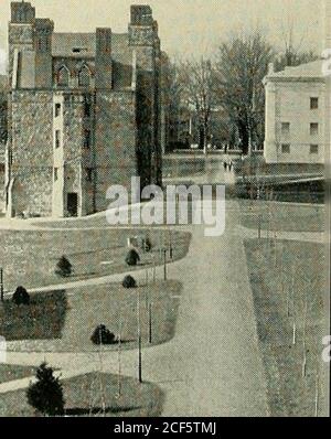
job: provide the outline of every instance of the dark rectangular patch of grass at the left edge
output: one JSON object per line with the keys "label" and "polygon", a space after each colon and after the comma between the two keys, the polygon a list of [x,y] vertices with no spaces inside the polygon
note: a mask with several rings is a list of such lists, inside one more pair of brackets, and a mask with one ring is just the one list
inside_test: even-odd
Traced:
{"label": "dark rectangular patch of grass at the left edge", "polygon": [[7,341],[61,338],[67,308],[64,291],[31,295],[29,306],[0,304],[0,334]]}

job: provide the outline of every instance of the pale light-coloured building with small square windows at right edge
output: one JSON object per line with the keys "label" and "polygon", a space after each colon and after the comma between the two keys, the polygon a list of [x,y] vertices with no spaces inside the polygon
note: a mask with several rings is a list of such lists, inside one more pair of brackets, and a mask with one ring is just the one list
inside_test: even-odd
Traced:
{"label": "pale light-coloured building with small square windows at right edge", "polygon": [[323,61],[265,78],[267,163],[324,163],[330,139],[328,86]]}

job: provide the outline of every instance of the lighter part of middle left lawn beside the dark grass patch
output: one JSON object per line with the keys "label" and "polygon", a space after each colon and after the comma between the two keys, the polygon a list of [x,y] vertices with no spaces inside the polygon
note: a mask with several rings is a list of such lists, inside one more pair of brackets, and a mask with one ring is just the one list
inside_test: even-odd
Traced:
{"label": "lighter part of middle left lawn beside the dark grass patch", "polygon": [[[140,299],[142,345],[156,345],[171,340],[175,331],[181,283],[177,281],[150,282],[127,290],[121,285],[84,287],[67,292],[67,312],[62,334],[54,340],[24,340],[9,346],[26,352],[94,352],[99,347],[90,335],[99,324],[105,324],[118,335],[121,328],[122,349],[137,347],[137,306]],[[46,297],[47,293],[42,296]],[[151,304],[151,308],[150,308]],[[149,328],[151,311],[151,343]],[[104,346],[117,350],[117,344]]]}

